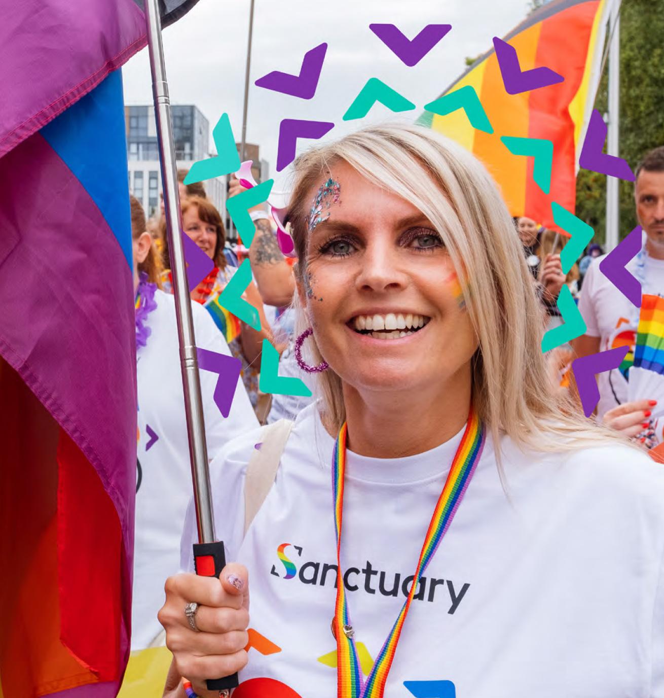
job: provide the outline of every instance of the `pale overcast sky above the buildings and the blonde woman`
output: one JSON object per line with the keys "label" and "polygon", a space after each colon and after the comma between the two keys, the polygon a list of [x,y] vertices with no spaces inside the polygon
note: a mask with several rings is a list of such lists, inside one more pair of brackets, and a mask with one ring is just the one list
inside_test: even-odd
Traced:
{"label": "pale overcast sky above the buildings and the blonde woman", "polygon": [[[247,141],[258,143],[270,164],[276,189],[288,170],[276,172],[282,119],[333,121],[326,136],[338,138],[370,121],[392,119],[375,105],[365,119],[342,115],[370,77],[378,77],[417,105],[401,118],[413,120],[465,70],[465,57],[492,46],[527,15],[527,0],[255,0]],[[163,34],[173,104],[195,104],[214,126],[228,112],[241,137],[249,0],[199,0]],[[372,33],[369,24],[396,24],[413,38],[426,24],[451,24],[451,31],[416,66],[408,68]],[[303,100],[253,84],[271,70],[299,73],[308,50],[328,50],[314,98]],[[123,68],[127,104],[151,103],[147,49]],[[212,140],[210,141],[212,147]],[[299,150],[310,141],[300,140]]]}

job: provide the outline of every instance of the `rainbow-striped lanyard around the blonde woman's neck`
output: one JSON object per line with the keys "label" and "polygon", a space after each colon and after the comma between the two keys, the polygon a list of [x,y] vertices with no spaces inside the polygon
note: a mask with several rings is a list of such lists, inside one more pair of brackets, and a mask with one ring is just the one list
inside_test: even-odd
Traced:
{"label": "rainbow-striped lanyard around the blonde woman's neck", "polygon": [[344,474],[346,470],[347,425],[341,427],[337,437],[332,459],[332,496],[334,504],[334,523],[337,537],[338,579],[337,600],[332,621],[334,635],[337,639],[337,696],[338,698],[382,698],[385,683],[392,666],[401,629],[416,593],[417,583],[426,570],[431,558],[447,532],[454,518],[468,483],[475,471],[485,442],[485,429],[477,414],[471,409],[461,443],[452,461],[450,472],[440,494],[436,508],[431,517],[429,529],[424,538],[420,559],[418,560],[408,598],[397,616],[384,645],[374,662],[366,681],[360,669],[360,662],[355,648],[354,630],[350,622],[346,591],[341,570],[341,523],[344,501]]}

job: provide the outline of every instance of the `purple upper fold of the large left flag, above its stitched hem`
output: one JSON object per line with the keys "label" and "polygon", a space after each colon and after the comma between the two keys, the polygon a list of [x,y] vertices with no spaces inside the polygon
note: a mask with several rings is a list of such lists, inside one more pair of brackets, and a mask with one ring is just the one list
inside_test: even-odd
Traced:
{"label": "purple upper fold of the large left flag, above its stitched hem", "polygon": [[[197,0],[159,0],[163,27]],[[0,157],[147,43],[144,0],[21,0],[0,23]]]}

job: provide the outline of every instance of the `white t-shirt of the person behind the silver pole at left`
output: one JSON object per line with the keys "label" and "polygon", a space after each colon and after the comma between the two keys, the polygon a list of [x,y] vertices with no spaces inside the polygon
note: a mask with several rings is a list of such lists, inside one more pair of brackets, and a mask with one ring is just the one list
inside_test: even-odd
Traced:
{"label": "white t-shirt of the person behind the silver pole at left", "polygon": [[[191,496],[191,468],[174,297],[156,290],[157,307],[146,319],[147,346],[137,352],[139,489],[136,494],[132,649],[162,630],[157,611],[164,580],[179,567],[184,514]],[[197,346],[230,355],[209,313],[192,303]],[[213,401],[218,374],[200,371],[208,455],[212,459],[237,434],[258,426],[241,380],[227,419]],[[148,429],[149,427],[149,429]],[[153,436],[156,435],[156,436]]]}

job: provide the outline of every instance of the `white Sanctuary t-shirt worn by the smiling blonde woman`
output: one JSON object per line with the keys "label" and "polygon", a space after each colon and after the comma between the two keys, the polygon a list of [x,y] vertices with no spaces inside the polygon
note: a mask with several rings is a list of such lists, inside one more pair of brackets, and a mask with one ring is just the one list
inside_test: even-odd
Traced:
{"label": "white Sanctuary t-shirt worn by the smiling blonde woman", "polygon": [[[370,662],[405,601],[461,436],[407,458],[347,454],[341,559]],[[246,433],[211,464],[218,535],[249,571],[250,628],[278,648],[250,648],[240,678],[336,698],[333,438],[315,403],[301,411],[243,540],[257,440]],[[386,698],[412,698],[405,681],[451,681],[457,698],[664,697],[664,468],[615,445],[524,454],[504,439],[502,452],[510,499],[488,438],[405,621]],[[187,570],[194,530],[190,506]]]}

